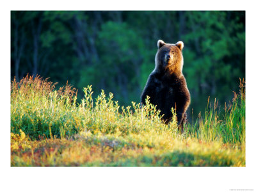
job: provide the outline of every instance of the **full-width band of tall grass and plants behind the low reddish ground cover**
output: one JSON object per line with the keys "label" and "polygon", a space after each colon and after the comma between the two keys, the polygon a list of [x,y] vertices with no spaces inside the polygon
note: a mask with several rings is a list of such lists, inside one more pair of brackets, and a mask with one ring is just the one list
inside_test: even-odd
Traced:
{"label": "full-width band of tall grass and plants behind the low reddish ground cover", "polygon": [[[223,109],[218,102],[211,106],[208,100],[203,115],[195,124],[188,124],[180,134],[173,116],[170,124],[163,124],[159,111],[147,100],[145,106],[132,102],[131,106],[119,106],[102,90],[93,99],[92,86],[84,88],[84,98],[77,102],[76,89],[68,84],[54,90],[55,84],[42,77],[24,77],[11,84],[11,132],[22,130],[31,139],[70,138],[79,132],[92,134],[163,134],[173,137],[196,138],[223,143],[244,143],[245,141],[245,85],[240,83],[239,94]],[[174,113],[174,111],[173,111]]]}

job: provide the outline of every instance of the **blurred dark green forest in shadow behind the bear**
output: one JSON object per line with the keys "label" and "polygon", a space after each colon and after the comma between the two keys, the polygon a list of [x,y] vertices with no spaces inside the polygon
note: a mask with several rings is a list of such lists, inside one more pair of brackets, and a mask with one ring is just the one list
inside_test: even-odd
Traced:
{"label": "blurred dark green forest in shadow behind the bear", "polygon": [[[224,106],[245,77],[245,12],[11,12],[11,78],[26,74],[92,84],[121,105],[140,102],[155,67],[157,40],[184,42],[183,74],[191,106],[204,111],[211,96]],[[193,114],[192,115],[192,109]]]}

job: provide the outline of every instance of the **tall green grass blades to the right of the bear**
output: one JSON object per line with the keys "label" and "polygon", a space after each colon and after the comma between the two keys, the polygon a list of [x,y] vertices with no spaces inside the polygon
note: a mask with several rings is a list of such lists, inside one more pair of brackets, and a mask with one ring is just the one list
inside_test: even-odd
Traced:
{"label": "tall green grass blades to the right of the bear", "polygon": [[209,99],[204,115],[198,115],[195,124],[189,124],[186,136],[205,141],[219,140],[223,143],[245,142],[245,82],[239,84],[239,93],[225,108],[218,107],[218,100],[211,106]]}

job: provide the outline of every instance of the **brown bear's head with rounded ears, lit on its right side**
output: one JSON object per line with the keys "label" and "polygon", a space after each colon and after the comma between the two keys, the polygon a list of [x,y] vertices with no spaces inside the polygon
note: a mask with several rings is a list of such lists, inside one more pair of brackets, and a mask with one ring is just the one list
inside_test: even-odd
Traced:
{"label": "brown bear's head with rounded ears, lit on its right side", "polygon": [[166,44],[163,40],[157,41],[156,72],[168,72],[180,74],[183,67],[182,49],[183,42],[177,44]]}

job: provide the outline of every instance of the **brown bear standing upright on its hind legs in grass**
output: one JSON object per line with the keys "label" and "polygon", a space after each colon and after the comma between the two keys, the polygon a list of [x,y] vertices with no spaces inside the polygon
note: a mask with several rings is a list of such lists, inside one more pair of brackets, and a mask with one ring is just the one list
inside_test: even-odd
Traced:
{"label": "brown bear standing upright on its hind legs in grass", "polygon": [[148,95],[150,103],[160,109],[166,124],[172,119],[171,109],[176,109],[178,126],[183,131],[190,104],[189,90],[182,74],[184,44],[180,41],[177,44],[166,44],[158,40],[157,47],[156,67],[148,77],[141,94],[141,103],[145,104]]}

